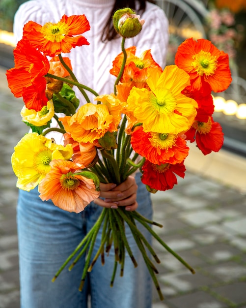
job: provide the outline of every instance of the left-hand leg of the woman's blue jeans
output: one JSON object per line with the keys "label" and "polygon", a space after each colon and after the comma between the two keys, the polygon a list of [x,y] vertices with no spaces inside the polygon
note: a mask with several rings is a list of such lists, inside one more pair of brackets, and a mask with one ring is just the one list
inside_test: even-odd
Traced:
{"label": "left-hand leg of the woman's blue jeans", "polygon": [[86,287],[79,292],[84,260],[77,270],[56,271],[84,234],[81,214],[43,202],[37,189],[20,190],[17,207],[21,308],[86,308]]}

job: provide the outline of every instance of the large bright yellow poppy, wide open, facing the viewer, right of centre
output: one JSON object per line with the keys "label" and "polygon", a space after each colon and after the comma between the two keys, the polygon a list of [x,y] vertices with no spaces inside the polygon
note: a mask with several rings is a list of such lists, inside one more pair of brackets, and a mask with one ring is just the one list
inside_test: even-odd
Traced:
{"label": "large bright yellow poppy, wide open, facing the viewer, right of centre", "polygon": [[189,129],[198,106],[181,92],[190,85],[190,76],[176,65],[166,66],[162,73],[149,68],[147,84],[150,91],[134,87],[127,100],[127,109],[143,130],[179,134]]}

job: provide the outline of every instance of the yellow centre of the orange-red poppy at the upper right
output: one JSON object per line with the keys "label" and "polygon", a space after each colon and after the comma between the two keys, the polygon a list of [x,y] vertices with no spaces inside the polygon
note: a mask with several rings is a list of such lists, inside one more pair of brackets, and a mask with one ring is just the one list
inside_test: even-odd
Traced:
{"label": "yellow centre of the orange-red poppy at the upper right", "polygon": [[207,51],[201,50],[198,54],[194,55],[191,65],[200,76],[204,74],[206,77],[213,75],[217,69],[218,60],[215,56]]}

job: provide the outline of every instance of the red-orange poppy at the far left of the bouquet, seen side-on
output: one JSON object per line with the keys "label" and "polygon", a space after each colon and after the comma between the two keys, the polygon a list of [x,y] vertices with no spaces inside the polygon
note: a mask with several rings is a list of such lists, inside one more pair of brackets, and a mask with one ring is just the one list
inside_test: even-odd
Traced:
{"label": "red-orange poppy at the far left of the bouquet, seen side-on", "polygon": [[46,79],[50,64],[26,39],[14,49],[15,67],[6,72],[8,86],[15,97],[23,96],[27,109],[40,111],[47,105]]}

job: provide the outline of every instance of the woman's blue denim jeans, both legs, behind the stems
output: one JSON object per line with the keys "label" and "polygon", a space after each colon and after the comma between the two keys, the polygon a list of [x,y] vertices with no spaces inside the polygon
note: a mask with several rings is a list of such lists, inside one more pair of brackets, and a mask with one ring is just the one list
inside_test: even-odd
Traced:
{"label": "woman's blue denim jeans, both legs, behind the stems", "polygon": [[[149,193],[136,175],[138,185],[138,209],[145,217],[152,218]],[[50,201],[43,202],[37,189],[20,190],[17,207],[19,236],[21,308],[87,308],[87,295],[92,308],[150,308],[152,280],[131,232],[126,228],[129,244],[137,259],[134,268],[126,253],[124,276],[116,274],[113,287],[110,279],[114,264],[114,252],[100,258],[87,275],[82,292],[78,290],[84,258],[68,271],[67,267],[52,282],[74,248],[81,242],[100,215],[102,208],[91,203],[79,214],[65,212]],[[151,241],[150,234],[142,226],[138,228]],[[95,244],[95,251],[100,239]],[[119,266],[118,266],[119,269]]]}

